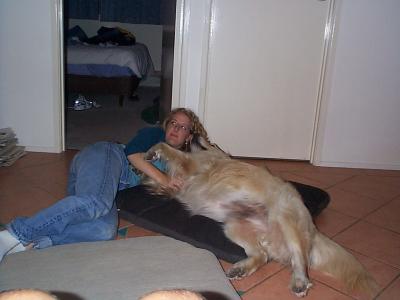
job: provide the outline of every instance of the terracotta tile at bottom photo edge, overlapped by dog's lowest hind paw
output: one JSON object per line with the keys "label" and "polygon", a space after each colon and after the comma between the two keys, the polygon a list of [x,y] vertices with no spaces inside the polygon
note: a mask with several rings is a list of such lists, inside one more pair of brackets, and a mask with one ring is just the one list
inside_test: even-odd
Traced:
{"label": "terracotta tile at bottom photo edge, overlapped by dog's lowest hind paw", "polygon": [[[261,284],[246,292],[243,300],[294,300],[297,298],[289,289],[290,273],[284,269],[278,274],[265,280]],[[349,296],[342,294],[334,289],[320,283],[314,282],[313,287],[308,291],[307,300],[344,300],[352,299]]]}

